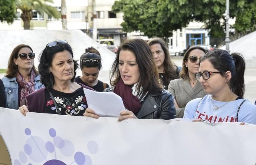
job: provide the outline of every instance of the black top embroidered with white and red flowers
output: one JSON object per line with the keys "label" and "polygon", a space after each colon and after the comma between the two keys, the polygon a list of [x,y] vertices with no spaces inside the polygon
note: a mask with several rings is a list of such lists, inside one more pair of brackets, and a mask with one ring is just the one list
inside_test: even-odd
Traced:
{"label": "black top embroidered with white and red flowers", "polygon": [[[54,89],[51,92],[58,108],[61,108],[60,112],[62,115],[83,116],[85,109],[88,107],[83,87],[73,93],[64,93]],[[45,100],[43,113],[58,114],[49,92],[45,92]]]}

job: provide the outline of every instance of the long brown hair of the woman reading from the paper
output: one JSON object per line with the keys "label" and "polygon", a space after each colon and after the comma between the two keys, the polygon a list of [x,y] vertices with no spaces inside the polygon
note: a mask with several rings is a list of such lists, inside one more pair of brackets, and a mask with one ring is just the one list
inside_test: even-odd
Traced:
{"label": "long brown hair of the woman reading from the paper", "polygon": [[[138,80],[137,92],[144,95],[147,91],[150,93],[158,93],[161,91],[161,85],[158,82],[157,65],[154,62],[150,47],[147,42],[142,39],[126,40],[118,48],[115,61],[111,67],[110,84],[116,85],[121,79],[119,72],[119,55],[122,50],[132,52],[140,70],[140,78]],[[140,89],[143,91],[139,91]]]}

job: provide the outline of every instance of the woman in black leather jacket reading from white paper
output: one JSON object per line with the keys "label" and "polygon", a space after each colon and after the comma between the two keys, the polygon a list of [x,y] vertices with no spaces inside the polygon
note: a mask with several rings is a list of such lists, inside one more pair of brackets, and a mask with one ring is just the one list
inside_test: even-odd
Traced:
{"label": "woman in black leather jacket reading from white paper", "polygon": [[[173,119],[173,96],[158,81],[157,66],[147,42],[131,39],[121,44],[111,68],[111,85],[106,92],[119,95],[127,110],[120,113],[118,121],[127,118]],[[85,116],[98,118],[92,109]]]}

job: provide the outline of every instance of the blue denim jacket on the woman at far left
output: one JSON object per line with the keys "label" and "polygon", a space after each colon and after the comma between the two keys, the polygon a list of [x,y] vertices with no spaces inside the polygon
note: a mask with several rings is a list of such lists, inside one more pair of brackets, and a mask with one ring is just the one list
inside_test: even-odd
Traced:
{"label": "blue denim jacket on the woman at far left", "polygon": [[[16,81],[16,77],[13,77],[13,78],[3,77],[2,80],[4,83],[4,91],[6,94],[7,108],[19,109],[19,105],[18,105],[19,104],[19,100],[18,100],[19,85]],[[39,75],[35,77],[34,82],[35,82],[35,90],[38,90],[44,87],[44,85],[40,82]]]}

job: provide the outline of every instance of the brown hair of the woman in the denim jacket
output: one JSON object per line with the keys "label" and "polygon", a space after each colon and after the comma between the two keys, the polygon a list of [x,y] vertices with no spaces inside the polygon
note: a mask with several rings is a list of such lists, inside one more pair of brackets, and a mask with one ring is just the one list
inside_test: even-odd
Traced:
{"label": "brown hair of the woman in the denim jacket", "polygon": [[[8,78],[16,77],[17,73],[19,72],[18,66],[15,65],[15,63],[13,62],[13,59],[18,58],[18,53],[19,53],[20,49],[22,49],[23,47],[27,47],[33,52],[32,48],[28,45],[20,44],[20,45],[16,46],[13,49],[12,54],[8,61],[8,67],[7,67],[7,71],[6,71],[6,75],[5,75],[6,77],[8,77]],[[35,71],[36,74],[38,74],[35,65],[33,65],[32,69]]]}

